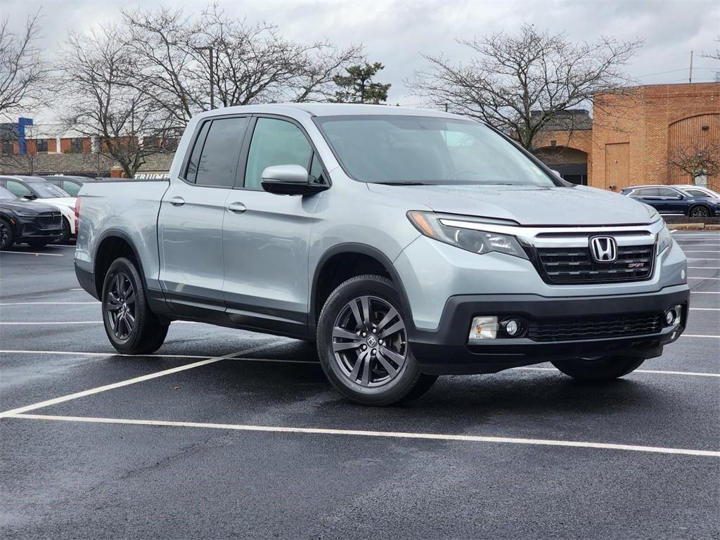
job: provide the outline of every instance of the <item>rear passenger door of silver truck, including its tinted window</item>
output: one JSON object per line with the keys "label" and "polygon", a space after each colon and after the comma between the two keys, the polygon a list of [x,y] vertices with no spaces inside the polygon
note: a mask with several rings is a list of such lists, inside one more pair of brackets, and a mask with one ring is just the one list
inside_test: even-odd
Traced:
{"label": "rear passenger door of silver truck, including its tinted window", "polygon": [[222,221],[235,185],[248,116],[215,117],[197,127],[158,217],[161,284],[179,315],[225,321]]}

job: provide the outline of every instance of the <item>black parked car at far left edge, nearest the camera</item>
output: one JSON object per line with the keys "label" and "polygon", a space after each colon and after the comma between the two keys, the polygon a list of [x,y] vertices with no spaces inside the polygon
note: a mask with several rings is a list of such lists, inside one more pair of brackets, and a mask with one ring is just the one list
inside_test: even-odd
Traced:
{"label": "black parked car at far left edge, nearest the camera", "polygon": [[0,249],[15,243],[40,247],[63,236],[63,216],[48,204],[23,201],[0,187]]}

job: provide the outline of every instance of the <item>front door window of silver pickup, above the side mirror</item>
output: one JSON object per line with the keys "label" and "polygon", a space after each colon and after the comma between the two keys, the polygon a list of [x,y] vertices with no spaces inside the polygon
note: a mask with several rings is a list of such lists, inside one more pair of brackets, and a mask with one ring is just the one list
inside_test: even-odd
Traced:
{"label": "front door window of silver pickup, above the side mirror", "polygon": [[305,134],[292,122],[258,118],[248,151],[245,187],[262,189],[261,176],[269,166],[302,165],[307,168],[311,153],[312,147]]}

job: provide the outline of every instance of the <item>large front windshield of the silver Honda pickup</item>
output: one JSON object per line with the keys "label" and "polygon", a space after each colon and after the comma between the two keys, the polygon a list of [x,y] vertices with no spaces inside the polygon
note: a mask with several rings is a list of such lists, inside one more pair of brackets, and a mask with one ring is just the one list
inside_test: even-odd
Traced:
{"label": "large front windshield of the silver Honda pickup", "polygon": [[314,120],[345,171],[358,181],[558,185],[513,143],[479,122],[390,115]]}

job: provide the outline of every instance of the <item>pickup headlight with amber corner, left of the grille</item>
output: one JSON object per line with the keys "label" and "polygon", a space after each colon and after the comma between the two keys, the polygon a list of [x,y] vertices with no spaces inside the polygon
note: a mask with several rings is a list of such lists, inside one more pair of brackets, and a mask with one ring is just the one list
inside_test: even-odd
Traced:
{"label": "pickup headlight with amber corner, left of the grille", "polygon": [[[441,222],[441,216],[434,212],[408,212],[408,219],[423,235],[440,240],[451,246],[472,251],[472,253],[505,253],[521,258],[528,258],[518,239],[512,235],[490,233],[485,230],[475,230],[463,227],[450,227]],[[454,222],[467,222],[472,225],[481,223],[453,219]]]}

